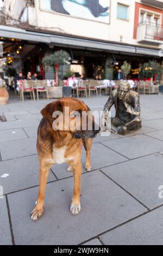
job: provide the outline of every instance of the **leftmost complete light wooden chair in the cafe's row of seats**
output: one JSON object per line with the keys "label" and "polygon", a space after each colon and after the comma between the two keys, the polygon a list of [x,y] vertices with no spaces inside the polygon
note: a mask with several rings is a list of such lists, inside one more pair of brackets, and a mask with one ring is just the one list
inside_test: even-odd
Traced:
{"label": "leftmost complete light wooden chair in the cafe's row of seats", "polygon": [[24,93],[29,93],[31,99],[35,100],[35,92],[34,92],[34,84],[33,81],[23,80],[20,87],[20,97],[21,100],[24,101]]}

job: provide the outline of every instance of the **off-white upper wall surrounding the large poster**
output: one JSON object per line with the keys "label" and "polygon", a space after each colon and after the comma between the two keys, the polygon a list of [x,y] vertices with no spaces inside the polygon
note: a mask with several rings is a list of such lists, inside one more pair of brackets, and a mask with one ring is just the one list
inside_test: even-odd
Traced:
{"label": "off-white upper wall surrounding the large poster", "polygon": [[[11,4],[11,14],[16,17],[20,15],[21,10],[24,8],[27,1],[8,0],[5,2],[7,2],[8,8],[9,4]],[[110,2],[110,24],[84,20],[69,15],[55,13],[53,11],[41,10],[41,0],[34,0],[35,8],[32,6],[28,7],[28,18],[31,25],[43,29],[47,28],[52,31],[99,40],[140,45],[137,43],[137,40],[133,39],[133,33],[135,2],[141,2],[141,0],[110,0]],[[117,3],[129,6],[128,21],[117,19]],[[150,45],[150,47],[152,46]]]}

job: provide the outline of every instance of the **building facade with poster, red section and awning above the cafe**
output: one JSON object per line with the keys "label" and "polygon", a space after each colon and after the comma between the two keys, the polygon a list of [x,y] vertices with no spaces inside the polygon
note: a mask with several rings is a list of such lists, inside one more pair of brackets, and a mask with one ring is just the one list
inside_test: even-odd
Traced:
{"label": "building facade with poster, red section and awning above the cafe", "polygon": [[[162,61],[163,0],[4,0],[4,11],[12,19],[7,17],[10,27],[0,26],[2,38],[22,40],[24,63],[28,49],[33,54],[41,49],[39,63],[64,48],[74,71],[111,79],[114,63],[128,60],[136,69],[149,59]],[[18,30],[19,22],[29,27]],[[51,76],[52,70],[46,72]]]}

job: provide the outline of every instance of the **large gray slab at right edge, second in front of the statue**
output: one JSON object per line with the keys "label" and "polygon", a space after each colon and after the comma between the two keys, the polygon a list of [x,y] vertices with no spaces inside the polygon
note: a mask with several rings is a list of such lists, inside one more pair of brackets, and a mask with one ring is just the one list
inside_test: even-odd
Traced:
{"label": "large gray slab at right edge, second in front of the statue", "polygon": [[101,169],[125,190],[153,209],[163,203],[159,187],[163,185],[163,155],[154,154]]}

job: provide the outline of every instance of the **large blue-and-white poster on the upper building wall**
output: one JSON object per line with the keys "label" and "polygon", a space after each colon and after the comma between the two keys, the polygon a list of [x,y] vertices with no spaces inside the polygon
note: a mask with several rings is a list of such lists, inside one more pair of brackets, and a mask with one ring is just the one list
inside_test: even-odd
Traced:
{"label": "large blue-and-white poster on the upper building wall", "polygon": [[41,0],[41,9],[109,23],[110,0]]}

